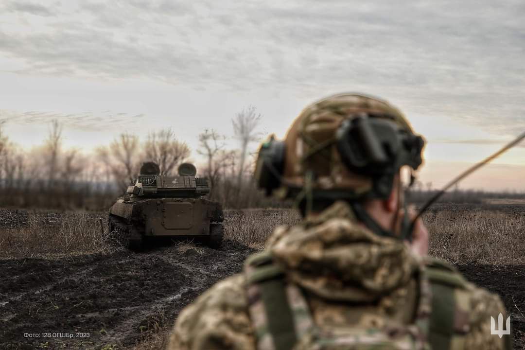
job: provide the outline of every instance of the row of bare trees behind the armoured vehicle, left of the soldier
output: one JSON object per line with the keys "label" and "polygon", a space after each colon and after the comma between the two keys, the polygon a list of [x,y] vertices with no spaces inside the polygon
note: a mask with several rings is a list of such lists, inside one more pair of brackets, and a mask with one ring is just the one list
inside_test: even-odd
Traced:
{"label": "row of bare trees behind the armoured vehicle, left of the soldier", "polygon": [[[144,140],[122,133],[89,154],[66,149],[62,125],[53,120],[43,144],[26,150],[9,140],[0,121],[0,206],[105,210],[137,178],[143,162],[159,164],[161,175],[175,175],[178,165],[196,162],[208,178],[209,198],[226,208],[268,206],[253,178],[254,146],[261,115],[249,106],[235,114],[232,135],[205,129],[196,150],[177,139],[173,129],[150,132]],[[228,148],[228,139],[237,142]]]}

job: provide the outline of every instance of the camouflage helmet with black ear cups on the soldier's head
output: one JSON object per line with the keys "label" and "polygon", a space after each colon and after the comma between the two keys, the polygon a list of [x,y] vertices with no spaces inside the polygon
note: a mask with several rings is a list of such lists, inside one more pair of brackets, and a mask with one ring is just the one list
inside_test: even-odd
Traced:
{"label": "camouflage helmet with black ear cups on the soldier's head", "polygon": [[386,197],[403,165],[422,163],[424,141],[390,103],[363,94],[337,94],[305,108],[284,141],[259,150],[256,177],[267,194],[295,197]]}

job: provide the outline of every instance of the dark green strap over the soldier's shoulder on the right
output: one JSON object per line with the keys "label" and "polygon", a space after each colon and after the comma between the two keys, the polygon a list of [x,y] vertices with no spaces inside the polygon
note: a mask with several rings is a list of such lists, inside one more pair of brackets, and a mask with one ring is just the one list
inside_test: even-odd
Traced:
{"label": "dark green strap over the soldier's shoulder on the right", "polygon": [[426,273],[432,289],[429,342],[433,349],[464,349],[469,332],[466,281],[444,260],[429,258]]}

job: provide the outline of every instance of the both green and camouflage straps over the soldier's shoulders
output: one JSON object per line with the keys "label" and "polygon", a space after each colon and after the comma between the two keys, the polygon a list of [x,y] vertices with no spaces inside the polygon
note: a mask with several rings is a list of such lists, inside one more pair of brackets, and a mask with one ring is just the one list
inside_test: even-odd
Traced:
{"label": "both green and camouflage straps over the soldier's shoulders", "polygon": [[[287,283],[271,251],[249,257],[245,273],[259,350],[291,349],[304,334],[317,333],[303,293]],[[463,349],[469,331],[465,280],[437,259],[430,260],[418,280],[418,306],[413,324],[405,328],[412,334],[414,348],[426,349],[429,343],[432,349]]]}

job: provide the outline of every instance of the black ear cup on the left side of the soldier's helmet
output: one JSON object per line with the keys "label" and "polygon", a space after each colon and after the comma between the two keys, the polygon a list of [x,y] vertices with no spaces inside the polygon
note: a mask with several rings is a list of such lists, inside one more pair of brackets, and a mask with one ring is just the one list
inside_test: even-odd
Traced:
{"label": "black ear cup on the left side of the soldier's helmet", "polygon": [[281,178],[285,168],[285,142],[271,138],[263,143],[257,157],[255,176],[257,186],[266,190],[266,195],[281,186]]}

